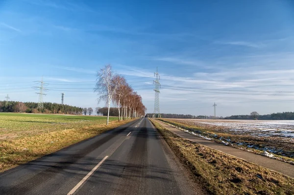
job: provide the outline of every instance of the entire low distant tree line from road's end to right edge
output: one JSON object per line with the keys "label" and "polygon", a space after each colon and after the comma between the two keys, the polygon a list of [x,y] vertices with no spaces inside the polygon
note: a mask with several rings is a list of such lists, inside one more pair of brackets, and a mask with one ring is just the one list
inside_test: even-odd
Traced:
{"label": "entire low distant tree line from road's end to right edge", "polygon": [[[146,117],[152,117],[152,113],[146,114]],[[156,116],[157,117],[157,116]],[[161,114],[161,118],[182,118],[182,119],[214,119],[214,116],[191,115],[191,114]],[[264,115],[232,115],[227,117],[216,117],[216,119],[238,119],[238,120],[294,120],[294,112],[277,112]]]}

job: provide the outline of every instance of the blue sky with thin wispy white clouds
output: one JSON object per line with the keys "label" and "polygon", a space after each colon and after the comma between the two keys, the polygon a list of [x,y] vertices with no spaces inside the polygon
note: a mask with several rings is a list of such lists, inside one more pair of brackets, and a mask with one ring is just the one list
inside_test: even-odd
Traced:
{"label": "blue sky with thin wispy white clouds", "polygon": [[0,0],[0,97],[98,107],[96,71],[123,74],[162,113],[213,115],[293,111],[291,0]]}

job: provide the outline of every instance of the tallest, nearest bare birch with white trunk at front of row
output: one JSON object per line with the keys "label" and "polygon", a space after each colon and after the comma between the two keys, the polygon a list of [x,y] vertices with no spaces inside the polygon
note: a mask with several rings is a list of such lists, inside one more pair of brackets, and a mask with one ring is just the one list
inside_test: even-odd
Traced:
{"label": "tallest, nearest bare birch with white trunk at front of row", "polygon": [[106,65],[97,72],[97,83],[96,87],[94,88],[94,92],[97,92],[99,96],[98,103],[103,100],[106,102],[106,104],[108,104],[106,125],[109,123],[110,103],[118,86],[117,80],[114,79],[115,76],[116,74],[112,71],[111,65]]}

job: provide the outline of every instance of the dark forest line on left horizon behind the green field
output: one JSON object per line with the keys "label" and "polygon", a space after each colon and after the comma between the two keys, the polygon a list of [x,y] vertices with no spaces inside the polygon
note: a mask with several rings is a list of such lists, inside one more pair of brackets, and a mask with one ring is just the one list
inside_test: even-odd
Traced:
{"label": "dark forest line on left horizon behind the green field", "polygon": [[44,109],[37,107],[38,103],[34,102],[0,101],[0,112],[82,114],[82,108],[51,102],[44,102]]}

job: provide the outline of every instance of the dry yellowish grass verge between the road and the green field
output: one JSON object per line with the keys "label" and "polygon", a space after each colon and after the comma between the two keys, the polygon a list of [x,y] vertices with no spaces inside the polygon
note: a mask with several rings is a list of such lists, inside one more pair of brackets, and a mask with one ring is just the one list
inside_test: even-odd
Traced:
{"label": "dry yellowish grass verge between the road and the green field", "polygon": [[132,120],[85,125],[80,128],[42,132],[0,141],[0,172],[111,130]]}

